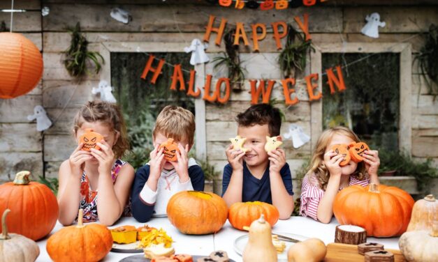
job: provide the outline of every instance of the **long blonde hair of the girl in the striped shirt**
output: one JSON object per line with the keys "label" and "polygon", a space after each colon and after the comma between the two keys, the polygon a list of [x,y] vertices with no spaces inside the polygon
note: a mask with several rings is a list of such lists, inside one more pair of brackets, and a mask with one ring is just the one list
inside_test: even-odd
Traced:
{"label": "long blonde hair of the girl in the striped shirt", "polygon": [[[330,173],[328,172],[326,165],[323,163],[324,153],[326,153],[326,148],[328,144],[330,144],[330,141],[335,134],[344,135],[356,142],[360,141],[359,137],[353,132],[353,130],[343,126],[330,128],[321,134],[321,137],[319,137],[318,141],[316,142],[316,146],[312,155],[312,161],[310,162],[310,169],[307,171],[306,176],[311,176],[314,174],[319,182],[319,186],[324,191],[326,191],[328,178],[330,178]],[[365,173],[365,164],[363,162],[359,162],[356,171],[354,171],[352,175],[356,176],[358,180],[363,180],[366,176]]]}

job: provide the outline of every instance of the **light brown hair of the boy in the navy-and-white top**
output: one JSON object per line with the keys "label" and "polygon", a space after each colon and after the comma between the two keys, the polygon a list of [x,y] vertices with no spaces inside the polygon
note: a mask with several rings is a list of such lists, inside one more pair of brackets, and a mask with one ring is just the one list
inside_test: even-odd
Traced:
{"label": "light brown hair of the boy in the navy-and-white top", "polygon": [[175,141],[187,139],[189,145],[194,144],[195,116],[191,111],[175,105],[168,105],[156,117],[153,135],[161,132]]}

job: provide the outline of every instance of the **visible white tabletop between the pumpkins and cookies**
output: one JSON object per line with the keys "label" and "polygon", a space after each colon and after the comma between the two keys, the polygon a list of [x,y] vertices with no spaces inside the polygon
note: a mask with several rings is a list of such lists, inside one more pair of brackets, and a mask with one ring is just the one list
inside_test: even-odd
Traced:
{"label": "visible white tabletop between the pumpkins and cookies", "polygon": [[[224,227],[216,234],[204,235],[204,236],[191,236],[184,235],[178,231],[175,226],[170,224],[167,217],[156,217],[147,222],[149,226],[154,226],[155,228],[163,228],[166,230],[169,236],[175,241],[173,247],[177,254],[191,254],[191,255],[201,255],[208,256],[214,250],[225,250],[228,253],[230,259],[235,261],[242,261],[242,257],[235,252],[233,243],[234,240],[240,236],[247,234],[245,231],[240,231],[234,229],[231,224],[227,222]],[[326,244],[330,242],[335,242],[335,226],[337,226],[337,221],[335,218],[332,219],[330,224],[323,224],[316,222],[308,217],[291,217],[287,220],[279,220],[277,224],[272,228],[273,232],[277,233],[294,233],[297,235],[307,236],[309,238],[319,238],[323,240]],[[122,225],[132,225],[132,226],[143,226],[143,223],[139,223],[133,217],[123,217],[117,224],[111,227],[117,227]],[[52,235],[54,232],[59,231],[62,226],[57,223],[54,227]],[[43,240],[39,240],[38,246],[40,247],[40,256],[36,261],[51,261],[48,255],[45,244],[48,237]],[[379,242],[389,249],[399,249],[398,247],[399,238],[367,238],[367,242]],[[115,253],[110,252],[103,261],[120,261],[126,256],[135,255],[133,253]]]}

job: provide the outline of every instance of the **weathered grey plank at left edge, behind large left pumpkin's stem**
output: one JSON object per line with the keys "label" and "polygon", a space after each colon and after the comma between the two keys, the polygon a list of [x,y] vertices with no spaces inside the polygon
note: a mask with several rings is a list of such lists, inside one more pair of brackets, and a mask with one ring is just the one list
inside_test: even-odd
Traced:
{"label": "weathered grey plank at left edge, behind large left pumpkin's stem", "polygon": [[17,172],[31,171],[31,179],[43,174],[43,153],[0,152],[0,183],[14,180]]}

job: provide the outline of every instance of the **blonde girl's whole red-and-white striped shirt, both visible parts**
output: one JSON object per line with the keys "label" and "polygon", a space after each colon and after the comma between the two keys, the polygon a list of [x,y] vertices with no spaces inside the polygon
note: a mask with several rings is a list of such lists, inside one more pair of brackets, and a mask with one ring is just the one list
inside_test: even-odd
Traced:
{"label": "blonde girl's whole red-and-white striped shirt, both visible parts", "polygon": [[[356,176],[350,176],[350,185],[362,185],[366,187],[370,183],[368,178],[364,180],[358,180]],[[340,188],[340,191],[342,188]],[[319,181],[316,176],[313,174],[311,176],[305,176],[302,180],[301,187],[301,206],[300,206],[300,215],[303,217],[312,217],[315,220],[318,220],[317,212],[319,201],[323,198],[324,190],[319,186]]]}

